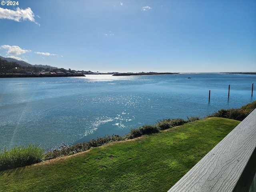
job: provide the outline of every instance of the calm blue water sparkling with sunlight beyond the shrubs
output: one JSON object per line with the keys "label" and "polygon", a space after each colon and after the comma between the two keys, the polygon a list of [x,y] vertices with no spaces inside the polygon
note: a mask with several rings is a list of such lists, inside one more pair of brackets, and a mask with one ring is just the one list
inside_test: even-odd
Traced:
{"label": "calm blue water sparkling with sunlight beyond the shrubs", "polygon": [[202,118],[256,100],[252,83],[256,75],[0,78],[0,149],[32,143],[52,150],[164,118]]}

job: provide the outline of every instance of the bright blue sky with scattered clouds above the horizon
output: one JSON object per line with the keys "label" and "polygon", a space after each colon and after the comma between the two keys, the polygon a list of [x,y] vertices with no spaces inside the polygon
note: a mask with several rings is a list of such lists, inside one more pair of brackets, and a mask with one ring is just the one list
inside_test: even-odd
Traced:
{"label": "bright blue sky with scattered clouds above the horizon", "polygon": [[99,72],[256,72],[255,0],[19,0],[0,55]]}

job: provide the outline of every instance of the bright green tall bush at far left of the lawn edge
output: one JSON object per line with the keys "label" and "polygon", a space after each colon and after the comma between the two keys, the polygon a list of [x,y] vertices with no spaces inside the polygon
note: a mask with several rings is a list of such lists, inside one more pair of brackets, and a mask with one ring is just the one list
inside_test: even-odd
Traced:
{"label": "bright green tall bush at far left of the lawn edge", "polygon": [[29,144],[27,147],[15,146],[11,150],[0,152],[0,170],[23,167],[42,162],[44,149]]}

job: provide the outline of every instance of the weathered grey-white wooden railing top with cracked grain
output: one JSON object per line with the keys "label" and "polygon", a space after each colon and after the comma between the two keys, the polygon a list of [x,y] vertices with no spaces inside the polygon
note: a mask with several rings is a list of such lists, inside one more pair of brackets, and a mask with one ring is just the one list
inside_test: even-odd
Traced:
{"label": "weathered grey-white wooden railing top with cracked grain", "polygon": [[168,192],[248,192],[255,173],[256,109]]}

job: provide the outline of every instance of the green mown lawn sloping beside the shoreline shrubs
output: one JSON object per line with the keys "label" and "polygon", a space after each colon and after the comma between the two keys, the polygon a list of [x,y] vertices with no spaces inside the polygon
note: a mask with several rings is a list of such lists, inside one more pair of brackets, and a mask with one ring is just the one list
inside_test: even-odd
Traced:
{"label": "green mown lawn sloping beside the shoreline shrubs", "polygon": [[208,118],[70,158],[0,172],[0,191],[166,192],[239,121]]}

